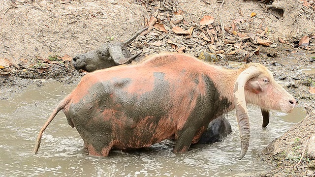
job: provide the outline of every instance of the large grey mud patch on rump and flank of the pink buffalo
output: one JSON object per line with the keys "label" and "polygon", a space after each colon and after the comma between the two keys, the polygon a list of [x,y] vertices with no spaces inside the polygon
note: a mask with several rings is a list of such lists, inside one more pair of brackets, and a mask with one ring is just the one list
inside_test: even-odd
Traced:
{"label": "large grey mud patch on rump and flank of the pink buffalo", "polygon": [[[96,83],[79,103],[70,105],[66,117],[73,120],[85,143],[92,144],[98,153],[115,138],[129,147],[138,147],[139,140],[140,144],[156,142],[152,135],[167,114],[164,105],[170,100],[167,96],[169,83],[163,80],[164,73],[156,72],[155,75],[154,89],[141,95],[126,92],[132,82],[130,78]],[[146,119],[144,124],[143,119]],[[135,129],[137,124],[143,127]]]}

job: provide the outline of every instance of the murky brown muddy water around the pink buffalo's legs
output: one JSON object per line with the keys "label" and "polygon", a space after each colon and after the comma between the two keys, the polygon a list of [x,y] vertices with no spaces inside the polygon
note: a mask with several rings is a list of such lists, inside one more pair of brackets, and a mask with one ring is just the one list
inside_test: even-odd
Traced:
{"label": "murky brown muddy water around the pink buffalo's legs", "polygon": [[262,128],[260,110],[249,107],[251,144],[245,158],[240,152],[239,131],[234,113],[228,115],[233,132],[223,142],[192,148],[175,154],[169,143],[149,151],[121,152],[109,157],[87,155],[76,129],[61,112],[46,130],[39,153],[34,155],[38,131],[60,100],[75,86],[43,81],[7,100],[0,100],[0,176],[106,176],[106,177],[242,177],[268,169],[257,152],[304,118],[303,108],[292,114],[271,112],[270,124]]}

